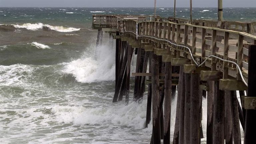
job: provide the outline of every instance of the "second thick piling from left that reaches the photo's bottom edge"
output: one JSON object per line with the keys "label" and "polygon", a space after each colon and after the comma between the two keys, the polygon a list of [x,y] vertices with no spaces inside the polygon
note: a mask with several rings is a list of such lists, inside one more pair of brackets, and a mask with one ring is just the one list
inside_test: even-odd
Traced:
{"label": "second thick piling from left that reaches the photo's bottom edge", "polygon": [[170,144],[171,125],[171,101],[172,101],[172,66],[171,62],[165,62],[164,76],[164,144]]}

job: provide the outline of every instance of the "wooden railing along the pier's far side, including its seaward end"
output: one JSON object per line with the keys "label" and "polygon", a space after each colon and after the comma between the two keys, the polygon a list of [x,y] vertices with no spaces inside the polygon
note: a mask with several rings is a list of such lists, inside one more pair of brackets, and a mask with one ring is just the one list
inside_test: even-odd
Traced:
{"label": "wooden railing along the pier's far side, including its seaward end", "polygon": [[[191,24],[189,19],[173,17],[163,18],[159,16],[147,16],[147,15],[93,15],[93,27],[106,27],[117,28],[119,20],[133,19],[137,21],[164,21],[174,22],[179,24]],[[193,25],[221,28],[226,30],[234,30],[238,32],[246,32],[252,35],[256,35],[256,22],[239,22],[239,21],[214,21],[214,20],[193,20]]]}

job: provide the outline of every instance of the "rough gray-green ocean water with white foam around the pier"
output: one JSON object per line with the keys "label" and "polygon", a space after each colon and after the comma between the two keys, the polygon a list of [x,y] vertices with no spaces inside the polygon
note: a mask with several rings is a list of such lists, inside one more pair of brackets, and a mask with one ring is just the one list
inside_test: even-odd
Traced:
{"label": "rough gray-green ocean water with white foam around the pier", "polygon": [[[177,8],[189,18],[189,8]],[[224,19],[256,21],[256,8],[224,8]],[[0,8],[0,143],[150,142],[142,104],[112,103],[115,48],[104,33],[96,48],[92,14],[151,15],[153,8]],[[163,17],[173,8],[158,8]],[[193,18],[217,19],[217,8],[194,8]],[[132,72],[135,70],[135,57]],[[130,99],[134,79],[131,78]],[[176,98],[172,102],[171,137]],[[203,132],[206,137],[206,99]],[[206,139],[202,139],[205,143]]]}

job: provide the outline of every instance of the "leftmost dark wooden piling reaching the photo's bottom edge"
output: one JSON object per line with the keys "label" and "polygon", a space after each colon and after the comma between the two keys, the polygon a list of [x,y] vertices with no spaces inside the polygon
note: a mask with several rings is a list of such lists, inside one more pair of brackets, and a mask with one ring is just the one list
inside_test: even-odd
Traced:
{"label": "leftmost dark wooden piling reaching the photo's bottom edge", "polygon": [[161,142],[160,133],[160,96],[159,96],[159,68],[158,57],[151,53],[152,68],[152,110],[153,110],[153,144]]}

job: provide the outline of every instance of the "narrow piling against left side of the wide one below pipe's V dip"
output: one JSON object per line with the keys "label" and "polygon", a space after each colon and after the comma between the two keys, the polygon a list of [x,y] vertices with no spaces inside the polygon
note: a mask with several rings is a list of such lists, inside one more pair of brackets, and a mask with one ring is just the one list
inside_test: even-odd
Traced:
{"label": "narrow piling against left side of the wide one below pipe's V dip", "polygon": [[191,74],[185,73],[185,113],[184,113],[184,143],[190,143],[190,89]]}

